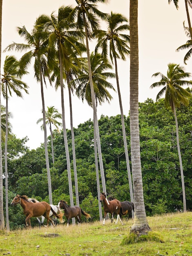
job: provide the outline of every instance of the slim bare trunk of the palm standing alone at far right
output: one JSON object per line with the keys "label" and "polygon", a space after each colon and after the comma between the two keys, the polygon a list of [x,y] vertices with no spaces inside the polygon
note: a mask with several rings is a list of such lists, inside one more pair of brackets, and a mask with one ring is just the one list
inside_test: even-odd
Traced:
{"label": "slim bare trunk of the palm standing alone at far right", "polygon": [[175,117],[175,124],[176,124],[176,144],[177,144],[177,151],[179,155],[179,164],[180,164],[180,170],[181,170],[181,184],[182,184],[182,191],[183,191],[183,212],[186,212],[187,209],[186,209],[186,199],[185,199],[185,182],[184,182],[184,175],[183,175],[181,151],[179,146],[179,129],[178,129],[177,116],[176,116],[176,108],[174,103],[173,103],[173,110],[174,110],[174,117]]}

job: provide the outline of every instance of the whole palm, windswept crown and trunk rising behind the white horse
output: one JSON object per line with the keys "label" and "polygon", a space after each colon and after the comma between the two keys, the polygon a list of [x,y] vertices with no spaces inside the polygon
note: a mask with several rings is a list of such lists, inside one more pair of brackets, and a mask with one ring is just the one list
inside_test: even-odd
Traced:
{"label": "whole palm, windswept crown and trunk rising behind the white horse", "polygon": [[[35,57],[34,61],[34,71],[35,77],[38,82],[40,82],[41,89],[41,99],[42,99],[42,113],[43,113],[43,126],[44,126],[44,145],[45,145],[45,160],[47,167],[47,180],[48,180],[48,190],[49,190],[49,203],[52,204],[52,189],[51,189],[51,174],[49,168],[49,156],[48,156],[48,148],[47,148],[47,128],[46,128],[46,120],[45,120],[45,100],[44,100],[44,92],[43,92],[43,77],[47,75],[47,61],[45,59],[45,54],[47,53],[47,44],[48,44],[48,31],[46,30],[45,24],[49,21],[49,17],[46,15],[40,15],[31,31],[31,34],[27,31],[25,26],[17,27],[18,33],[21,37],[25,38],[27,44],[23,43],[12,43],[8,45],[6,49],[17,51],[27,51],[22,58],[20,59],[21,67],[27,67],[33,57]],[[6,50],[5,49],[5,50]],[[45,79],[44,79],[45,82]]]}

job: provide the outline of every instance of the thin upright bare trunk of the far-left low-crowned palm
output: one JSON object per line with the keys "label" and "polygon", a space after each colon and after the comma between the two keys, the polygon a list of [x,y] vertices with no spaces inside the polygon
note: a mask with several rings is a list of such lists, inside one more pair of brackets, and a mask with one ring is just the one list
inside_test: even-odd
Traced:
{"label": "thin upright bare trunk of the far-left low-crowned palm", "polygon": [[8,171],[7,171],[7,141],[8,141],[8,96],[6,85],[6,132],[5,132],[5,146],[4,146],[4,168],[5,168],[5,209],[6,209],[6,227],[9,231],[9,200],[8,200]]}

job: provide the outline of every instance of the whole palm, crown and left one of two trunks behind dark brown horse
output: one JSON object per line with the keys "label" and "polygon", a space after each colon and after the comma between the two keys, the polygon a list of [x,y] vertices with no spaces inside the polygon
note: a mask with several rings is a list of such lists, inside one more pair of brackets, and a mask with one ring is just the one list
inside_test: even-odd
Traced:
{"label": "whole palm, crown and left one of two trunks behind dark brown horse", "polygon": [[[74,17],[71,18],[69,22],[69,14],[71,13],[71,7],[60,7],[58,10],[58,16],[51,13],[51,20],[49,22],[48,29],[50,31],[49,36],[49,56],[52,56],[52,53],[58,53],[59,68],[60,73],[57,76],[56,84],[60,83],[61,90],[61,106],[62,106],[62,121],[63,121],[63,135],[64,135],[64,144],[65,144],[65,153],[67,159],[67,174],[69,182],[69,195],[70,195],[70,204],[74,205],[73,200],[73,191],[72,191],[72,182],[71,182],[71,166],[70,166],[70,157],[69,157],[69,148],[67,142],[67,130],[65,125],[65,104],[64,104],[64,92],[63,92],[63,70],[69,70],[71,67],[70,57],[81,54],[80,49],[82,44],[78,41],[82,35],[79,31],[74,29]],[[51,64],[51,61],[50,61]],[[72,219],[74,223],[74,218]]]}

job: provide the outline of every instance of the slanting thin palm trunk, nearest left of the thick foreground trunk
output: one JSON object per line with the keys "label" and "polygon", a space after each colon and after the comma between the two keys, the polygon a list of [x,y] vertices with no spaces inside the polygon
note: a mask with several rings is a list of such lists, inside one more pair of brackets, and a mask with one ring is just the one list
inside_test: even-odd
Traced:
{"label": "slanting thin palm trunk, nearest left of the thick foreground trunk", "polygon": [[[131,202],[134,202],[134,199],[133,199],[133,187],[132,187],[132,177],[131,177],[131,171],[130,171],[130,166],[129,166],[129,155],[128,155],[128,150],[127,150],[127,138],[126,138],[126,131],[125,131],[125,120],[124,120],[124,115],[123,115],[123,106],[122,106],[122,101],[121,101],[121,92],[120,92],[119,81],[118,81],[116,56],[114,56],[114,61],[115,61],[115,74],[116,74],[116,83],[117,83],[119,106],[120,106],[120,110],[121,110],[121,123],[122,123],[122,131],[123,131],[123,143],[124,143],[124,149],[125,149],[125,159],[126,159],[126,164],[127,164],[127,174],[128,174],[128,181],[129,181],[129,193],[130,193]],[[132,217],[134,217],[134,211],[132,211]]]}

